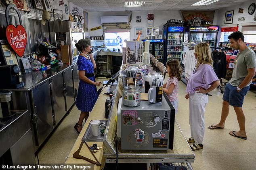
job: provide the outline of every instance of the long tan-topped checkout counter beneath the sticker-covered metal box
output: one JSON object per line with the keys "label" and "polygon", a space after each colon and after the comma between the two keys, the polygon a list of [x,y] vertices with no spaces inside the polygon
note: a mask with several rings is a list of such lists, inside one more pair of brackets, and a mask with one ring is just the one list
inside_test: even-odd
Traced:
{"label": "long tan-topped checkout counter beneath the sticker-covered metal box", "polygon": [[[117,83],[117,89],[114,93],[113,104],[111,106],[111,111],[109,119],[107,121],[107,126],[105,129],[105,135],[103,141],[87,141],[88,145],[93,145],[96,143],[98,146],[103,147],[103,149],[98,150],[94,153],[95,158],[99,160],[101,166],[94,165],[94,170],[101,170],[104,165],[116,163],[116,149],[118,152],[118,163],[146,163],[149,167],[149,163],[183,163],[188,169],[193,169],[191,162],[194,162],[195,155],[191,150],[189,144],[187,143],[182,131],[180,130],[177,122],[174,122],[174,137],[173,137],[173,149],[167,150],[122,150],[120,142],[116,141],[117,134],[117,124],[115,122],[115,116],[117,115],[118,100],[123,95],[122,79],[119,78]],[[103,90],[101,93],[107,92],[107,89]],[[99,98],[88,117],[78,139],[73,145],[65,164],[89,164],[89,162],[73,158],[73,154],[80,148],[80,155],[89,158],[90,160],[95,160],[90,150],[84,144],[84,136],[88,133],[88,126],[91,120],[105,120],[105,110],[102,106],[105,105],[105,100],[107,95],[99,95]],[[167,97],[167,96],[165,96]],[[164,97],[163,97],[164,98]],[[167,99],[167,98],[166,98]],[[163,99],[165,100],[165,99]],[[82,143],[81,143],[82,142]],[[115,145],[117,142],[117,145]],[[116,149],[115,149],[115,146]],[[82,147],[82,148],[81,148]],[[96,160],[95,160],[96,161]]]}

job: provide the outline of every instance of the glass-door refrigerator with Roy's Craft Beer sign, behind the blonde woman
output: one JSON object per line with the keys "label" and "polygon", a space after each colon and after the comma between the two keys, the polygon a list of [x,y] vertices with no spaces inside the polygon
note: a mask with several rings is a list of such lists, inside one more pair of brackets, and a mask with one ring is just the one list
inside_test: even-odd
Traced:
{"label": "glass-door refrigerator with Roy's Craft Beer sign, behind the blonde woman", "polygon": [[210,47],[216,47],[219,26],[190,27],[190,41],[196,44],[205,41]]}

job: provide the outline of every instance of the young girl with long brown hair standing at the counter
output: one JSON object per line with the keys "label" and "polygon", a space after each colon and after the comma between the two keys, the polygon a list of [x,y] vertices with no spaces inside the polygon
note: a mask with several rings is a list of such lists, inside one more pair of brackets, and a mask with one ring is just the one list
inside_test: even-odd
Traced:
{"label": "young girl with long brown hair standing at the counter", "polygon": [[176,114],[178,110],[178,81],[181,80],[182,69],[178,60],[169,60],[166,62],[166,67],[169,79],[167,83],[163,85],[163,90],[172,103]]}

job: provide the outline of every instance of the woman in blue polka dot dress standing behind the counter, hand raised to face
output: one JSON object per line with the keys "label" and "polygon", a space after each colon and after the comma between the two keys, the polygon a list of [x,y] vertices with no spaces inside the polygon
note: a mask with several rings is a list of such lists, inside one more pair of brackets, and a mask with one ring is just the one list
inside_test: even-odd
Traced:
{"label": "woman in blue polka dot dress standing behind the counter, hand raised to face", "polygon": [[80,52],[77,62],[80,81],[78,95],[76,97],[76,106],[78,110],[81,110],[81,114],[78,123],[74,127],[79,134],[82,130],[83,120],[87,120],[89,112],[92,111],[92,108],[97,101],[98,93],[96,86],[100,86],[101,82],[95,81],[93,74],[93,69],[96,68],[96,64],[92,54],[89,54],[89,52],[91,52],[90,40],[80,39],[75,46]]}

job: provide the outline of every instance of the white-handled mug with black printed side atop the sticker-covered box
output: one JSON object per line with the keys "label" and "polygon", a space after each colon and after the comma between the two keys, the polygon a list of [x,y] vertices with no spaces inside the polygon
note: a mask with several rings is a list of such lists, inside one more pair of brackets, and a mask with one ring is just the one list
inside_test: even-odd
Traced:
{"label": "white-handled mug with black printed side atop the sticker-covered box", "polygon": [[150,86],[149,92],[147,94],[147,99],[150,103],[159,104],[162,103],[163,98],[163,87]]}

